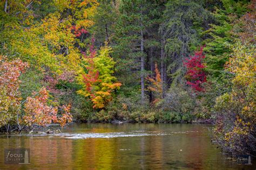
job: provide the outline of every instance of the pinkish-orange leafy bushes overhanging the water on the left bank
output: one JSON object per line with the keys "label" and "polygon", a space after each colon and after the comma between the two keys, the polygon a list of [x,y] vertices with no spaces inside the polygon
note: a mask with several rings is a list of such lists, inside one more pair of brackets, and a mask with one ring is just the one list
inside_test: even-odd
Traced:
{"label": "pinkish-orange leafy bushes overhanging the water on the left bank", "polygon": [[[32,124],[59,123],[64,126],[71,122],[71,106],[49,105],[49,93],[45,88],[22,101],[19,77],[28,67],[28,63],[20,59],[8,61],[5,56],[0,56],[0,125],[17,124],[18,130],[22,130]],[[24,109],[21,110],[23,104]]]}

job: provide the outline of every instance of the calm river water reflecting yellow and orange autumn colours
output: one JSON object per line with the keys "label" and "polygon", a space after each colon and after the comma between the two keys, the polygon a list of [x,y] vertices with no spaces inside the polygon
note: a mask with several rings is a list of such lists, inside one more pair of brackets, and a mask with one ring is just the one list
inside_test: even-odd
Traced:
{"label": "calm river water reflecting yellow and orange autumn colours", "polygon": [[[0,136],[0,169],[255,169],[211,144],[205,124],[78,124],[58,134]],[[30,165],[4,165],[4,148],[30,148]]]}

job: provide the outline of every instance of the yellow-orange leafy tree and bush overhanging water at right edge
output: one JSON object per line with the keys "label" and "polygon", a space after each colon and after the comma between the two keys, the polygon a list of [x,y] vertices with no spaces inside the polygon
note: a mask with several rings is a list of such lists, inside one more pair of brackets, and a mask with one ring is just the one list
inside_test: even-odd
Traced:
{"label": "yellow-orange leafy tree and bush overhanging water at right edge", "polygon": [[232,32],[239,39],[231,46],[232,55],[226,63],[226,71],[233,74],[232,91],[219,96],[214,106],[217,117],[214,138],[233,154],[256,152],[254,20],[255,11],[235,22],[238,27]]}

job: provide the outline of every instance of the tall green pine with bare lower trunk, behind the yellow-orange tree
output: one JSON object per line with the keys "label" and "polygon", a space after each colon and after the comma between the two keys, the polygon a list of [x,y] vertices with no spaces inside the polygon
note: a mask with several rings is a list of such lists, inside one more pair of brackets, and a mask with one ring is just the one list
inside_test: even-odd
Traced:
{"label": "tall green pine with bare lower trunk, behind the yellow-orange tree", "polygon": [[146,98],[144,82],[146,77],[146,46],[149,45],[147,47],[150,47],[146,37],[149,37],[149,28],[152,28],[155,22],[154,19],[150,20],[149,18],[154,15],[152,11],[156,9],[156,4],[145,0],[123,1],[119,7],[120,16],[117,20],[114,38],[116,41],[116,45],[113,47],[114,58],[120,65],[118,71],[122,73],[120,75],[122,82],[125,82],[128,87],[137,86],[137,83],[140,82],[142,103],[145,102]]}

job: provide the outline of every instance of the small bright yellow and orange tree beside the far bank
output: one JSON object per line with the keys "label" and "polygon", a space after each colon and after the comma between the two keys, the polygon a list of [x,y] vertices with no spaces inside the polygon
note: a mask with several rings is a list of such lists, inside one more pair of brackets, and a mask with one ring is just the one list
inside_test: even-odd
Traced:
{"label": "small bright yellow and orange tree beside the far bank", "polygon": [[119,89],[121,83],[115,83],[114,73],[115,62],[110,57],[112,49],[102,47],[97,55],[93,45],[90,48],[90,54],[84,55],[84,69],[80,71],[78,77],[79,83],[83,89],[78,93],[85,97],[90,97],[93,108],[102,109],[112,100],[112,93]]}

